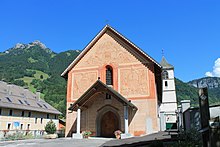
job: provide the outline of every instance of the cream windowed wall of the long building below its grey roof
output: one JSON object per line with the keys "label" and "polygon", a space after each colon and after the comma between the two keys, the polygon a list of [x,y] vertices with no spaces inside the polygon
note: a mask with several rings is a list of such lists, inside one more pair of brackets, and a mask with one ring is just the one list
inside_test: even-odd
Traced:
{"label": "cream windowed wall of the long building below its grey roof", "polygon": [[[45,125],[48,121],[51,119],[56,124],[58,129],[58,119],[55,114],[49,114],[49,118],[47,118],[46,113],[40,113],[40,112],[31,112],[31,116],[28,117],[28,113],[30,111],[25,111],[25,115],[21,116],[22,110],[16,110],[16,109],[6,109],[6,108],[0,108],[1,109],[1,115],[0,115],[0,130],[8,130],[8,124],[10,123],[10,129],[9,130],[27,130],[28,124],[30,124],[29,130],[44,130]],[[12,110],[12,116],[9,116],[9,111]],[[41,118],[42,123],[41,123]],[[15,127],[14,122],[19,122],[19,126]],[[21,124],[23,124],[23,128],[21,129]]]}

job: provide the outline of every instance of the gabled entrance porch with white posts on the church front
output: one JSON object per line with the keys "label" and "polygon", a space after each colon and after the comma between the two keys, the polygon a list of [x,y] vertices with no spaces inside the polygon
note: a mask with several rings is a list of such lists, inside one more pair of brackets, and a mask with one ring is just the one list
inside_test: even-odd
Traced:
{"label": "gabled entrance porch with white posts on the church front", "polygon": [[[96,94],[101,94],[101,99],[104,100],[104,103],[100,105],[98,102],[96,107],[92,108],[93,104],[96,103],[93,98]],[[111,95],[109,97],[105,97],[104,95],[108,94]],[[117,105],[115,107],[114,103],[121,103],[120,106]],[[100,108],[101,107],[101,108]],[[93,115],[83,115],[84,119],[84,128],[81,128],[81,111],[90,111],[89,109],[93,110]],[[97,110],[98,108],[98,110]],[[132,110],[132,118],[137,110],[137,107],[120,95],[117,91],[113,90],[112,88],[108,87],[100,80],[97,80],[80,98],[78,98],[70,107],[70,111],[77,111],[77,122],[76,122],[76,133],[73,133],[74,138],[79,138],[80,132],[84,130],[95,130],[96,136],[106,136],[110,137],[110,133],[112,133],[111,137],[114,135],[115,130],[121,130],[125,134],[129,134],[128,126],[128,112]],[[108,113],[110,114],[110,120],[106,121],[105,117],[107,117]],[[124,112],[123,112],[124,111]],[[109,113],[110,113],[109,112]],[[107,113],[107,114],[106,114]],[[86,113],[84,113],[86,114]],[[94,122],[94,114],[96,114],[96,121]],[[105,115],[106,114],[106,115]],[[87,117],[88,116],[88,117]],[[91,117],[90,117],[91,116]],[[104,117],[104,118],[103,118]],[[103,118],[103,119],[102,119]],[[87,120],[86,120],[87,119]],[[116,122],[113,126],[104,126],[104,124],[109,124],[108,122]],[[123,124],[124,125],[123,125]],[[122,128],[123,127],[123,128]],[[111,129],[106,129],[111,128]],[[117,129],[116,129],[117,128]],[[104,130],[108,130],[109,132],[104,132]]]}

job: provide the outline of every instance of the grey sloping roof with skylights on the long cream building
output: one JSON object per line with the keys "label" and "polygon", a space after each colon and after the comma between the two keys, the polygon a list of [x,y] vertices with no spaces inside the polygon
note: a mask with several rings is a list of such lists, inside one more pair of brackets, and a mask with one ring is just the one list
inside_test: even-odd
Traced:
{"label": "grey sloping roof with skylights on the long cream building", "polygon": [[31,91],[3,81],[0,81],[0,108],[62,114]]}

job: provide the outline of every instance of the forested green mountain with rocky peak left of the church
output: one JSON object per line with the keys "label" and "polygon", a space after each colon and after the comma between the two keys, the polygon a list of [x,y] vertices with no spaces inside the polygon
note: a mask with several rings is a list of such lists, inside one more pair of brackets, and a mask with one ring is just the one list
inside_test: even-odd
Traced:
{"label": "forested green mountain with rocky peak left of the church", "polygon": [[18,43],[0,53],[0,80],[41,91],[42,98],[66,113],[66,81],[61,72],[79,55],[79,50],[55,53],[40,41]]}

